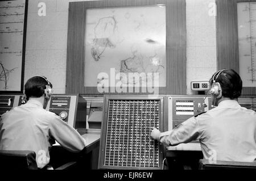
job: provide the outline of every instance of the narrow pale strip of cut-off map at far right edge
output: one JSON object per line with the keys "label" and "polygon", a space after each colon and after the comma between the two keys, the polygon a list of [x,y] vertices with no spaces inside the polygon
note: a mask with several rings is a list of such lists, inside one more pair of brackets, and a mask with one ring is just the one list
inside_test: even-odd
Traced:
{"label": "narrow pale strip of cut-off map at far right edge", "polygon": [[256,87],[256,2],[237,3],[237,19],[243,87]]}

